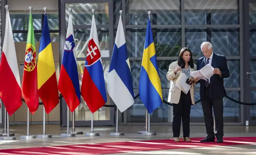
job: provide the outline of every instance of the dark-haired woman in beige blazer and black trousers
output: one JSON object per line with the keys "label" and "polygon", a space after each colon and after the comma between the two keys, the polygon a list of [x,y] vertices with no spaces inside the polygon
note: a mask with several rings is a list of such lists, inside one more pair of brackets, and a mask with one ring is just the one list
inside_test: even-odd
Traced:
{"label": "dark-haired woman in beige blazer and black trousers", "polygon": [[[180,50],[178,60],[170,64],[169,70],[166,74],[167,79],[170,81],[168,102],[173,103],[173,137],[175,142],[180,141],[181,118],[183,126],[183,140],[191,142],[189,138],[190,109],[191,103],[195,104],[194,85],[196,85],[198,78],[194,79],[191,77],[190,72],[195,70],[196,64],[193,62],[192,52],[189,48],[184,47]],[[176,80],[182,73],[188,77],[190,84],[192,85],[187,94],[175,85]]]}

